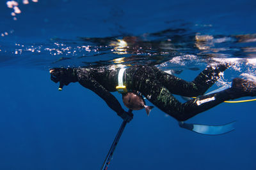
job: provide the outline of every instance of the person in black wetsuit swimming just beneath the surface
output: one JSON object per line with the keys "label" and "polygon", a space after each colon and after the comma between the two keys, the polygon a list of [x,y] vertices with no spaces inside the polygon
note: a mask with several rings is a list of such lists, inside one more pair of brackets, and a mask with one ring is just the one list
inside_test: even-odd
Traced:
{"label": "person in black wetsuit swimming just beneath the surface", "polygon": [[[207,66],[195,80],[184,81],[172,74],[164,73],[154,66],[127,67],[122,76],[128,91],[139,91],[147,99],[173,118],[184,121],[202,111],[230,99],[245,96],[256,96],[256,83],[235,78],[232,87],[206,96],[204,93],[220,77],[220,73],[228,66]],[[120,68],[54,68],[50,69],[51,80],[58,83],[60,88],[70,82],[79,82],[83,87],[92,90],[100,96],[108,106],[124,120],[129,122],[133,115],[124,111],[117,99],[110,93],[116,91]],[[172,94],[186,97],[196,97],[186,103],[180,103]]]}

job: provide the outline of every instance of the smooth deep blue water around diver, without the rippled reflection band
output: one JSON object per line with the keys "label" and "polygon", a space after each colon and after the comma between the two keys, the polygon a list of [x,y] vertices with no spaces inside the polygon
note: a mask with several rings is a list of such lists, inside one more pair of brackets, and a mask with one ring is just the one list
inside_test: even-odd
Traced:
{"label": "smooth deep blue water around diver, without the rippled reflection band", "polygon": [[[20,3],[17,21],[5,3],[0,4],[0,33],[13,33],[0,38],[0,169],[100,169],[122,123],[78,83],[59,92],[48,72],[54,56],[14,55],[15,43],[44,47],[52,38],[138,36],[184,25],[230,36],[253,34],[256,26],[254,1],[39,0]],[[180,76],[191,81],[198,73],[185,70]],[[256,169],[255,103],[220,104],[189,122],[232,120],[236,131],[202,136],[180,129],[157,108],[149,117],[134,111],[109,169]]]}

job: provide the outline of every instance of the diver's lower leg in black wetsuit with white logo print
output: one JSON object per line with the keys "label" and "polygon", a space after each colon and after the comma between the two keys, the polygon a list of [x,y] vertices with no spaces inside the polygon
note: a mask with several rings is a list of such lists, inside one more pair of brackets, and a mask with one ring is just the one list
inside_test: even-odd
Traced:
{"label": "diver's lower leg in black wetsuit with white logo print", "polygon": [[226,100],[256,96],[256,83],[237,78],[234,79],[230,89],[196,97],[182,104],[157,80],[156,72],[148,67],[143,67],[134,74],[133,83],[135,90],[139,90],[157,108],[179,121],[188,120]]}

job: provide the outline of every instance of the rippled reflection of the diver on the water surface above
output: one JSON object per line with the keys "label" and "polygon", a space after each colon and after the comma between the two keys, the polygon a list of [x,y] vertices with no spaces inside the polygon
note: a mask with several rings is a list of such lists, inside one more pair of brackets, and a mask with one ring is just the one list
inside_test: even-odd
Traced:
{"label": "rippled reflection of the diver on the water surface above", "polygon": [[[199,63],[211,64],[220,57],[244,59],[245,56],[255,56],[255,37],[255,34],[211,35],[181,27],[141,35],[120,34],[74,40],[54,38],[54,46],[56,44],[59,49],[45,49],[52,55],[61,55],[60,59],[52,62],[52,66],[87,67],[120,63],[156,66],[168,63],[172,67],[179,65],[198,69]],[[250,46],[243,44],[248,42],[254,43]],[[179,67],[179,71],[183,69]]]}

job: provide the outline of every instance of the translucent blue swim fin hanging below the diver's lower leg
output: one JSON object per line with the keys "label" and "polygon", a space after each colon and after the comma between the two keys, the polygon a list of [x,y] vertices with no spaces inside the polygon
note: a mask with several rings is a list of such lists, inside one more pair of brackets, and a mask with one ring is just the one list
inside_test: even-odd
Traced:
{"label": "translucent blue swim fin hanging below the diver's lower leg", "polygon": [[234,122],[230,122],[225,125],[200,125],[200,124],[187,124],[185,122],[179,122],[179,126],[188,129],[189,131],[197,132],[200,134],[207,134],[207,135],[220,135],[225,134],[227,132],[233,131]]}

